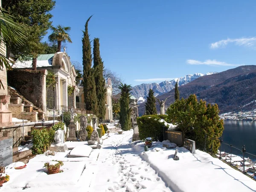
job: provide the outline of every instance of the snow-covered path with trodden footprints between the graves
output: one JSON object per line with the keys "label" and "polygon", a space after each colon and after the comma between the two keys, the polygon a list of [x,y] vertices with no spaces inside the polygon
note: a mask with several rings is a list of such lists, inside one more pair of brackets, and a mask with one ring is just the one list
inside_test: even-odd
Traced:
{"label": "snow-covered path with trodden footprints between the graves", "polygon": [[112,134],[104,140],[89,192],[170,192],[140,152],[131,147],[133,131]]}

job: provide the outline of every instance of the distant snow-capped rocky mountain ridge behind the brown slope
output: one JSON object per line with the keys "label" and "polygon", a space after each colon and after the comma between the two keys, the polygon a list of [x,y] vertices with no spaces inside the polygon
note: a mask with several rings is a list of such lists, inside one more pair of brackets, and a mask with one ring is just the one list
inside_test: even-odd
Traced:
{"label": "distant snow-capped rocky mountain ridge behind the brown slope", "polygon": [[154,91],[154,96],[162,95],[163,93],[169,92],[175,88],[176,81],[178,81],[178,86],[187,84],[198,77],[212,75],[217,72],[210,72],[206,74],[195,73],[194,75],[186,75],[184,77],[173,79],[172,81],[163,81],[161,83],[148,83],[140,84],[133,87],[131,95],[135,96],[138,99],[138,103],[142,103],[148,96],[149,89]]}

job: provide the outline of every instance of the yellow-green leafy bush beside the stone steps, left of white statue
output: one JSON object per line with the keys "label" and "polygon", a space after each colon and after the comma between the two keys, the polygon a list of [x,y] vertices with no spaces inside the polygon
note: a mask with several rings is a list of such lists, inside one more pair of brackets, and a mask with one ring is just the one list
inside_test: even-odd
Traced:
{"label": "yellow-green leafy bush beside the stone steps, left of white statue", "polygon": [[43,128],[42,130],[34,129],[31,134],[33,136],[32,153],[43,154],[54,140],[55,131],[46,128]]}

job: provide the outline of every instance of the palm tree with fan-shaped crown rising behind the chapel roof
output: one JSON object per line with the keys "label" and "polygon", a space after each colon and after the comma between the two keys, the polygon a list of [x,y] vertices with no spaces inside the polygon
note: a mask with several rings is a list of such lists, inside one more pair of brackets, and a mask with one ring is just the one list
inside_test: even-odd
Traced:
{"label": "palm tree with fan-shaped crown rising behind the chapel roof", "polygon": [[49,35],[48,40],[50,42],[57,41],[57,44],[58,44],[57,52],[61,51],[61,42],[65,43],[66,41],[68,41],[72,43],[71,38],[67,33],[68,31],[70,31],[71,27],[64,27],[61,25],[57,25],[57,27],[51,26],[50,29],[52,30],[52,34]]}

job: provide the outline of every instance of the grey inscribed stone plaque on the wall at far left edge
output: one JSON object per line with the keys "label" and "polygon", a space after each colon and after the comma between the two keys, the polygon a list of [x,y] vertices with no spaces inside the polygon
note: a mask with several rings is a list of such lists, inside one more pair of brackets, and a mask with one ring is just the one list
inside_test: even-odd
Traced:
{"label": "grey inscribed stone plaque on the wall at far left edge", "polygon": [[12,163],[12,138],[0,141],[0,166]]}

